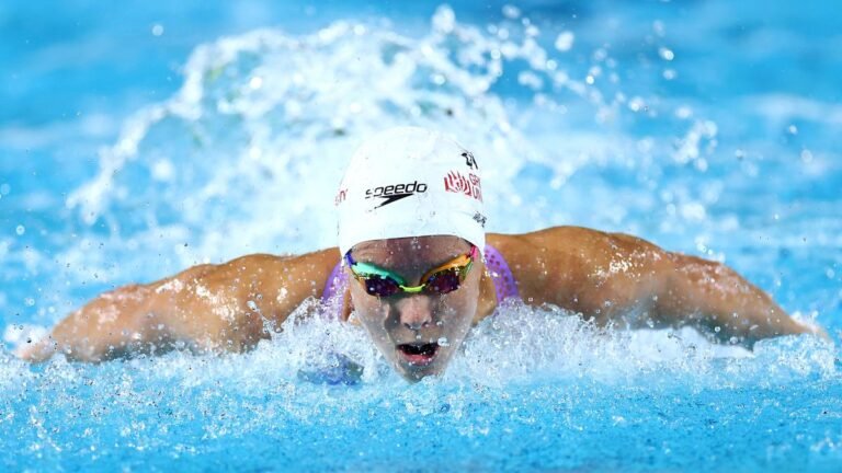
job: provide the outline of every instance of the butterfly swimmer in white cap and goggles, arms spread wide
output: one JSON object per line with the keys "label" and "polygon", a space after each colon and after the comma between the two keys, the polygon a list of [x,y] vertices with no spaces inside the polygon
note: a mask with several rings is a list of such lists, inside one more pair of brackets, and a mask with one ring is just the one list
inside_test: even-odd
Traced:
{"label": "butterfly swimmer in white cap and goggles, arms spread wide", "polygon": [[339,247],[242,256],[103,293],[18,355],[243,351],[309,298],[341,321],[353,313],[411,381],[442,372],[471,326],[511,301],[600,326],[689,325],[748,348],[778,335],[827,338],[728,267],[635,236],[578,227],[486,234],[481,171],[441,132],[388,129],[356,151],[338,189]]}

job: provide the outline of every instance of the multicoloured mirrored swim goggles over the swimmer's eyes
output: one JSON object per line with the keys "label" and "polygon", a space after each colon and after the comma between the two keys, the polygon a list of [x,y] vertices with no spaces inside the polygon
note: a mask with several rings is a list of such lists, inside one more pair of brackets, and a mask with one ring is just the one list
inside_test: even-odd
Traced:
{"label": "multicoloured mirrored swim goggles over the swimmer's eyes", "polygon": [[465,280],[477,257],[478,250],[470,246],[470,253],[456,256],[447,263],[424,273],[421,286],[407,286],[407,280],[395,273],[373,264],[356,262],[351,252],[345,254],[345,262],[354,279],[365,285],[365,291],[376,297],[395,296],[398,292],[445,295],[455,291]]}

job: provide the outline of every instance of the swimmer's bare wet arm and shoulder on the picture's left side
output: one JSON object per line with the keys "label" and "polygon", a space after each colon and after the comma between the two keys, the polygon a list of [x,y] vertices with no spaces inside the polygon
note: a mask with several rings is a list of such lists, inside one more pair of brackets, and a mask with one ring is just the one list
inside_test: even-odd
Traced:
{"label": "swimmer's bare wet arm and shoulder on the picture's left side", "polygon": [[270,336],[308,297],[318,297],[339,259],[335,249],[294,257],[250,255],[194,266],[148,285],[103,293],[69,314],[48,337],[20,348],[39,362],[56,353],[99,362],[183,346],[242,351]]}

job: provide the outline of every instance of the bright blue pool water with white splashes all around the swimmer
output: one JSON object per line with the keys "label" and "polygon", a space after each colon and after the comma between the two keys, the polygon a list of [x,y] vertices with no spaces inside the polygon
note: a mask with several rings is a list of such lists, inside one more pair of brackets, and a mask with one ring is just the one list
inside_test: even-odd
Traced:
{"label": "bright blue pool water with white splashes all around the swimmer", "polygon": [[[833,2],[0,5],[0,466],[7,471],[842,469],[839,348],[478,326],[409,385],[355,327],[244,355],[29,367],[96,293],[334,244],[350,149],[459,137],[491,231],[579,224],[724,261],[842,339]],[[299,373],[342,353],[353,385]]]}

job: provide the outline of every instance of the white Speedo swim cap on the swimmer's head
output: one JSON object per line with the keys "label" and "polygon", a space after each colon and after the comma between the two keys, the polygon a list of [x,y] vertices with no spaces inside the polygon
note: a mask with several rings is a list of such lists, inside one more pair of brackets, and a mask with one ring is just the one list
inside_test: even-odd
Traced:
{"label": "white Speedo swim cap on the swimmer's head", "polygon": [[406,236],[455,235],[486,244],[479,166],[470,151],[439,131],[398,127],[354,153],[334,200],[339,251]]}

